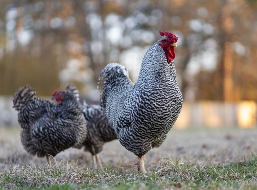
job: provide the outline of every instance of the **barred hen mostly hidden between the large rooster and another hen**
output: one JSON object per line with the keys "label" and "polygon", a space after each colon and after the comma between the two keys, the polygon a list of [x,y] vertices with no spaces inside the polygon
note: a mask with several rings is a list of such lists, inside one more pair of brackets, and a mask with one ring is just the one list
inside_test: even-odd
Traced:
{"label": "barred hen mostly hidden between the large rooster and another hen", "polygon": [[[71,91],[79,101],[79,92],[75,86],[68,85],[66,90]],[[87,104],[84,101],[82,113],[87,122],[87,136],[82,145],[84,145],[86,151],[92,154],[93,165],[99,165],[103,169],[98,153],[102,151],[105,142],[117,139],[117,135],[109,125],[108,119],[100,106]]]}

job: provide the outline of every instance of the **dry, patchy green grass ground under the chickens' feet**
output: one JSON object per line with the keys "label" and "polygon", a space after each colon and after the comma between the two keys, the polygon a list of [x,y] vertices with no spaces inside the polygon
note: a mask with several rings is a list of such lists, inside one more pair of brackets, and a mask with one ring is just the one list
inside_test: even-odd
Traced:
{"label": "dry, patchy green grass ground under the chickens' feet", "polygon": [[45,158],[26,153],[19,132],[0,128],[0,189],[257,189],[257,128],[172,129],[146,154],[146,175],[134,173],[135,156],[117,140],[99,154],[104,171],[93,168],[88,152],[73,148],[48,168]]}

